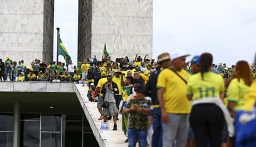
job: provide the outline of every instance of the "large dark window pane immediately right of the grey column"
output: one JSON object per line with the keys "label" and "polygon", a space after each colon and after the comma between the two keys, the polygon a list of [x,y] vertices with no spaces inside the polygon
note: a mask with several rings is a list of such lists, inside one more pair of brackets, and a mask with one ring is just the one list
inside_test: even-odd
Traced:
{"label": "large dark window pane immediately right of the grey column", "polygon": [[39,147],[40,122],[21,121],[21,147]]}

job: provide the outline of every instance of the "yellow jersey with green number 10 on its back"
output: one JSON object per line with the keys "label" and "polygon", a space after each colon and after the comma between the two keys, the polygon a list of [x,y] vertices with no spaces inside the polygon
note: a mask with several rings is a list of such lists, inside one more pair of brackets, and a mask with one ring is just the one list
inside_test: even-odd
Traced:
{"label": "yellow jersey with green number 10 on its back", "polygon": [[194,74],[189,78],[187,85],[187,95],[192,95],[193,100],[219,97],[225,90],[222,76],[213,72],[205,72],[203,80],[201,73]]}

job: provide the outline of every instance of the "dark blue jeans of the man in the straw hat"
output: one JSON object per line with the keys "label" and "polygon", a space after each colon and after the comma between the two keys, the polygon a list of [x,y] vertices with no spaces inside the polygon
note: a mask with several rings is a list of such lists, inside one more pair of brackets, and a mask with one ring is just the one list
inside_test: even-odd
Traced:
{"label": "dark blue jeans of the man in the straw hat", "polygon": [[161,109],[154,108],[151,112],[153,117],[153,135],[152,135],[152,147],[162,147],[162,120],[161,120]]}

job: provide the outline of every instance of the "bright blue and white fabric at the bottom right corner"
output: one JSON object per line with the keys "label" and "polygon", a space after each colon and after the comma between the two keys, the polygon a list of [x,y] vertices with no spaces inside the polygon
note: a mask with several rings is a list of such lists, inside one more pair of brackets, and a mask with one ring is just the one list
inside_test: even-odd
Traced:
{"label": "bright blue and white fabric at the bottom right corner", "polygon": [[[236,147],[256,147],[256,105],[251,112],[236,111],[235,127]],[[254,142],[253,145],[250,145],[252,142]]]}

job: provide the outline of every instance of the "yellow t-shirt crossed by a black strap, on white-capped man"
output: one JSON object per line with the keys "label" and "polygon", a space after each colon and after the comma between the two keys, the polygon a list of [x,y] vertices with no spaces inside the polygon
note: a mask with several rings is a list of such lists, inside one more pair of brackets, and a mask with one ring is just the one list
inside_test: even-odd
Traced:
{"label": "yellow t-shirt crossed by a black strap, on white-capped man", "polygon": [[[186,81],[190,77],[190,74],[183,69],[177,73]],[[190,113],[189,101],[186,96],[187,85],[173,71],[164,69],[160,72],[157,88],[164,88],[163,102],[167,113]]]}

